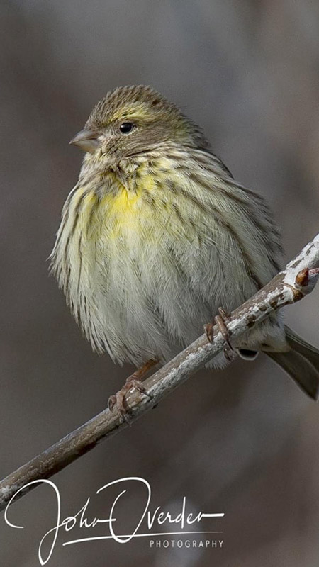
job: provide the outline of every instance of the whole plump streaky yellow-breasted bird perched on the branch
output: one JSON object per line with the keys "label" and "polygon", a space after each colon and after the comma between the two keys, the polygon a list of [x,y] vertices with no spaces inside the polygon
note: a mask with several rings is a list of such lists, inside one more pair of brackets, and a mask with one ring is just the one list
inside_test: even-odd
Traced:
{"label": "whole plump streaky yellow-breasted bird perched on the branch", "polygon": [[[271,357],[317,399],[319,351],[273,313],[231,344],[227,313],[281,269],[281,235],[259,193],[237,183],[203,130],[150,86],[121,86],[72,138],[84,151],[50,255],[85,337],[135,371],[108,400],[125,416],[130,388],[214,317],[230,350],[208,362]],[[212,337],[208,337],[213,339]]]}

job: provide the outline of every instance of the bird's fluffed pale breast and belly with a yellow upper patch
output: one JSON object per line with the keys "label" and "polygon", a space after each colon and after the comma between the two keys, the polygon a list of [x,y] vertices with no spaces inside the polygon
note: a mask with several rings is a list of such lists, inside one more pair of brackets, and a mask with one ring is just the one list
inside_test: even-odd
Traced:
{"label": "bird's fluffed pale breast and belly with a yellow upper patch", "polygon": [[[172,358],[201,335],[219,306],[232,310],[256,291],[227,223],[214,223],[209,208],[190,207],[184,196],[164,201],[149,189],[121,186],[102,196],[77,189],[52,254],[94,349],[136,365]],[[233,215],[247,239],[243,219]]]}

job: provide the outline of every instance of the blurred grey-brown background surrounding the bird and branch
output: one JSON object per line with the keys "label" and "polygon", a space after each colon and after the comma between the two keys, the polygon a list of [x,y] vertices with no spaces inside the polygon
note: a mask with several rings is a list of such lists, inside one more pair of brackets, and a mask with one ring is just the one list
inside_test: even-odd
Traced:
{"label": "blurred grey-brown background surrounding the bird and branch", "polygon": [[[267,198],[290,259],[319,230],[319,4],[2,0],[0,13],[2,478],[100,412],[132,371],[91,352],[47,274],[82,161],[71,137],[109,89],[151,84]],[[318,305],[319,288],[286,309],[317,346]],[[223,549],[150,549],[147,539],[62,547],[60,537],[49,565],[317,567],[318,417],[263,356],[198,373],[52,480],[65,517],[101,485],[145,477],[153,508],[177,509],[186,495],[191,510],[225,512],[212,527],[223,530]],[[127,529],[140,502],[130,490]],[[92,514],[106,512],[95,498]],[[37,565],[55,513],[46,488],[11,508],[24,530],[2,513],[1,565]]]}

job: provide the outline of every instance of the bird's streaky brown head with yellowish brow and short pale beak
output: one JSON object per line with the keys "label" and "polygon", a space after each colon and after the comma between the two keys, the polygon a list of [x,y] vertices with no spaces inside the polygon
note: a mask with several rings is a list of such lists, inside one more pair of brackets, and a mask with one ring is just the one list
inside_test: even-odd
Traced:
{"label": "bird's streaky brown head with yellowish brow and short pale beak", "polygon": [[201,130],[150,86],[121,86],[96,104],[71,140],[85,152],[123,159],[162,142],[206,150]]}

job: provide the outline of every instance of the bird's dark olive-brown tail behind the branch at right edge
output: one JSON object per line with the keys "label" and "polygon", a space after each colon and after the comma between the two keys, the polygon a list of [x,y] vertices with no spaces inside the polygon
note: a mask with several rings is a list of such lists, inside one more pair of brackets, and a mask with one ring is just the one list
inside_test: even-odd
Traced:
{"label": "bird's dark olive-brown tail behind the branch at right edge", "polygon": [[319,395],[319,350],[285,325],[289,352],[265,352],[314,400]]}

